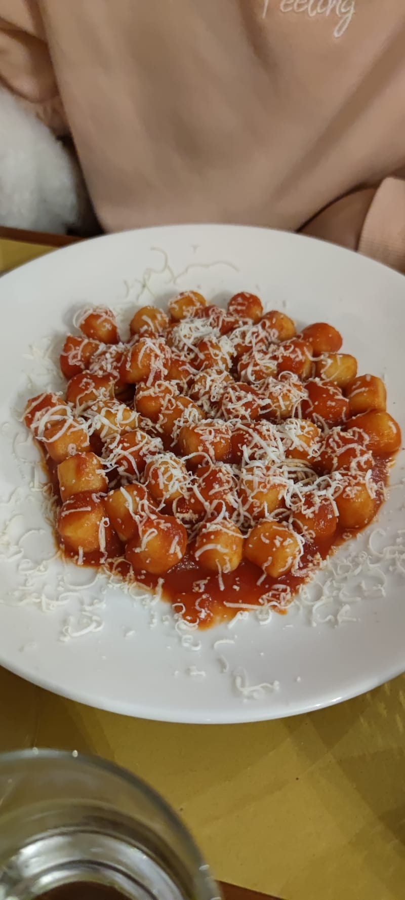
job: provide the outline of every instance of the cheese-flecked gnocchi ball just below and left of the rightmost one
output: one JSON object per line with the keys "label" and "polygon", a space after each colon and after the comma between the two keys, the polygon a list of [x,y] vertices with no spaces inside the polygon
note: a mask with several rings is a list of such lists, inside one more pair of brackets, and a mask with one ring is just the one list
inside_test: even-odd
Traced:
{"label": "cheese-flecked gnocchi ball just below and left of the rightmost one", "polygon": [[343,468],[367,472],[373,468],[373,463],[373,455],[364,442],[358,440],[356,432],[332,428],[320,443],[316,466],[320,472],[328,473]]}

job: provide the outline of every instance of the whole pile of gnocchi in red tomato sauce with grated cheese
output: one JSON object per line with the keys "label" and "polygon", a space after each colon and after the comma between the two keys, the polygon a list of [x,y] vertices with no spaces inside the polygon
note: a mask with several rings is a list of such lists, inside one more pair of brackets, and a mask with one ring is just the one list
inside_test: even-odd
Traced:
{"label": "whole pile of gnocchi in red tomato sauce with grated cheese", "polygon": [[65,392],[37,394],[23,419],[77,563],[159,585],[206,625],[283,607],[345,529],[373,520],[401,429],[337,329],[297,334],[257,294],[220,309],[196,291],[131,311],[128,340],[106,307],[74,324]]}

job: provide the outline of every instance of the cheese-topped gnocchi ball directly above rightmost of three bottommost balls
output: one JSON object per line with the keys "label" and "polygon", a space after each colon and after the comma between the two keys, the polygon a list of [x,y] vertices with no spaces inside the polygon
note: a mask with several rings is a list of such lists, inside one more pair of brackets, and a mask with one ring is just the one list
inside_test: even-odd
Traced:
{"label": "cheese-topped gnocchi ball directly above rightmost of three bottommost balls", "polygon": [[247,520],[266,518],[284,505],[287,482],[274,464],[256,461],[242,466],[238,482],[238,499]]}

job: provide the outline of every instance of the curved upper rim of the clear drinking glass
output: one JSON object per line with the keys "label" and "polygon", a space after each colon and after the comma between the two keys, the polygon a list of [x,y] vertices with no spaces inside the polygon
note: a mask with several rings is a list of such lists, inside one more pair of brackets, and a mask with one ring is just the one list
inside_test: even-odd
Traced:
{"label": "curved upper rim of the clear drinking glass", "polygon": [[143,779],[139,779],[137,775],[132,775],[130,771],[128,771],[127,769],[123,769],[115,762],[104,760],[101,757],[89,756],[86,753],[76,753],[67,750],[52,750],[49,748],[25,748],[24,750],[15,750],[0,753],[0,775],[2,774],[4,765],[6,765],[7,763],[10,764],[14,762],[36,760],[65,761],[78,764],[84,763],[90,768],[99,770],[100,772],[108,773],[109,775],[113,775],[115,778],[126,781],[130,788],[135,788],[140,793],[144,794],[145,797],[147,797],[147,799],[151,802],[151,804],[156,806],[157,809],[160,809],[160,811],[166,816],[168,823],[175,826],[176,831],[180,834],[180,837],[187,846],[188,851],[190,851],[190,853],[193,855],[193,860],[198,867],[199,873],[202,874],[203,872],[205,874],[206,872],[209,878],[211,878],[211,869],[203,860],[197,844],[194,842],[193,835],[188,831],[181,818],[166,802],[164,797],[161,797],[161,795],[157,793],[155,788],[151,788],[146,781],[144,781]]}

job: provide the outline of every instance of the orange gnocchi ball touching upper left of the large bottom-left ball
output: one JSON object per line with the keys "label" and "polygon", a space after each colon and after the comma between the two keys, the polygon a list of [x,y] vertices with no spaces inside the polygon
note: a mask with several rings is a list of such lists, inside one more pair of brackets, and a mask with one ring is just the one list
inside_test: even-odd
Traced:
{"label": "orange gnocchi ball touching upper left of the large bottom-left ball", "polygon": [[112,527],[123,544],[138,536],[139,522],[155,511],[155,501],[144,484],[127,484],[109,491],[103,500]]}

